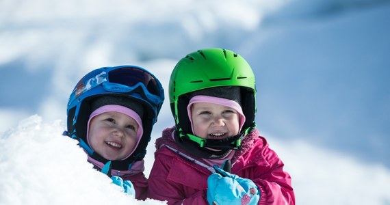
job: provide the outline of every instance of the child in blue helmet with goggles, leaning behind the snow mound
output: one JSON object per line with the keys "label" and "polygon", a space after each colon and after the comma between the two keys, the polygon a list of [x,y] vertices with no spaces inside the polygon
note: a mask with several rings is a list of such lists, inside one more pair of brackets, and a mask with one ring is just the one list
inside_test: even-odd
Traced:
{"label": "child in blue helmet with goggles, leaning behind the snow mound", "polygon": [[146,199],[144,156],[164,102],[159,80],[138,66],[92,70],[68,101],[68,135],[94,168],[138,200]]}

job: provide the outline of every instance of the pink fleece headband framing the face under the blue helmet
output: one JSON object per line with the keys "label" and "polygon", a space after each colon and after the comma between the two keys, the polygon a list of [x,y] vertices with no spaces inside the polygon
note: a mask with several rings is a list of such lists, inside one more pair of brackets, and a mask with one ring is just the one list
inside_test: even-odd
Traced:
{"label": "pink fleece headband framing the face under the blue helmet", "polygon": [[144,130],[142,128],[142,120],[140,118],[140,115],[138,115],[138,113],[136,113],[135,111],[133,111],[132,109],[129,109],[125,106],[122,106],[122,105],[104,105],[102,107],[99,107],[98,109],[96,109],[95,111],[93,111],[90,115],[90,119],[88,120],[88,124],[87,124],[87,142],[88,142],[88,145],[90,146],[90,148],[92,149],[92,146],[90,145],[90,135],[89,135],[89,131],[90,131],[90,121],[92,120],[92,118],[94,118],[96,115],[100,115],[101,113],[107,113],[107,112],[118,112],[118,113],[123,113],[125,115],[128,115],[130,118],[133,118],[135,120],[135,122],[137,122],[138,124],[138,131],[137,131],[137,143],[135,143],[135,147],[133,149],[133,151],[128,155],[126,156],[124,159],[122,160],[125,160],[127,159],[131,154],[133,154],[134,150],[137,148],[138,144],[140,143],[141,141],[141,138],[142,138],[142,134],[144,133]]}

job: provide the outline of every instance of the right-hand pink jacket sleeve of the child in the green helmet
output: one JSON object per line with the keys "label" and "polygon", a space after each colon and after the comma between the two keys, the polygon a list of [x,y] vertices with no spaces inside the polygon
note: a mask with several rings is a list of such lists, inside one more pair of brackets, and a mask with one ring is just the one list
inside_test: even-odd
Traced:
{"label": "right-hand pink jacket sleeve of the child in the green helmet", "polygon": [[258,150],[261,150],[261,155],[268,162],[268,165],[258,166],[255,170],[257,177],[253,182],[261,191],[259,204],[295,204],[291,176],[283,171],[281,159],[268,145]]}

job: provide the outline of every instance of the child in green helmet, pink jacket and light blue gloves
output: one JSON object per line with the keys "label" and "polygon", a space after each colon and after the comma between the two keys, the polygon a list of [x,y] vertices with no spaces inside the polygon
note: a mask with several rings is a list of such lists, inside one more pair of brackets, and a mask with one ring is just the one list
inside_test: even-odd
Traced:
{"label": "child in green helmet, pink jacket and light blue gloves", "polygon": [[255,75],[226,49],[186,55],[170,76],[175,126],[156,140],[148,197],[168,204],[295,204],[291,177],[255,128]]}

